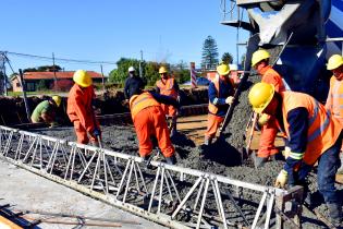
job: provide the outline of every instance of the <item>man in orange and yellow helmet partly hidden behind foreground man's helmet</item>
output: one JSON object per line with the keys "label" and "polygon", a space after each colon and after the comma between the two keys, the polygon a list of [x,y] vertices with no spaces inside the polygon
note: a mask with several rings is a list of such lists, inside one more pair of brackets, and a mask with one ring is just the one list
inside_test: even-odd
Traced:
{"label": "man in orange and yellow helmet partly hidden behind foreground man's helmet", "polygon": [[[285,91],[282,77],[269,65],[269,58],[270,53],[268,51],[264,49],[257,50],[253,53],[252,65],[261,75],[261,82],[272,84],[275,92],[281,93]],[[279,153],[274,145],[278,134],[275,119],[265,113],[259,117],[258,123],[261,125],[259,149],[256,155],[252,154],[256,168],[264,166],[269,158],[275,159]]]}

